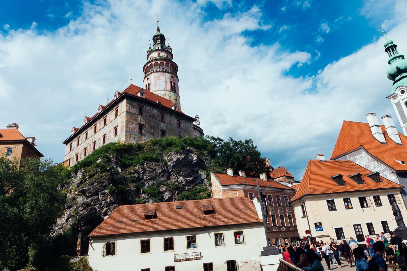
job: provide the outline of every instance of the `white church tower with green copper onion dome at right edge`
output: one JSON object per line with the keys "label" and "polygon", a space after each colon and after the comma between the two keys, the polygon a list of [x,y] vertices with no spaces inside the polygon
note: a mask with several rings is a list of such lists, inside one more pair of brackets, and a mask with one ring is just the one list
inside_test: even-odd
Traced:
{"label": "white church tower with green copper onion dome at right edge", "polygon": [[407,135],[407,61],[398,53],[397,45],[386,37],[384,31],[382,33],[385,37],[384,50],[389,56],[387,78],[394,81],[392,92],[387,98],[393,104],[403,133]]}

